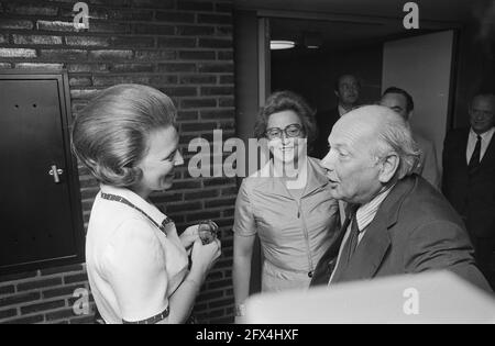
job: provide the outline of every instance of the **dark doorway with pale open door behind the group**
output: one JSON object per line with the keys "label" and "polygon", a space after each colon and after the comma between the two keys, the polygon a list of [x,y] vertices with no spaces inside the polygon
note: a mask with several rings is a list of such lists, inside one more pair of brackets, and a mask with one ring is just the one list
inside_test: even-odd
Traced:
{"label": "dark doorway with pale open door behind the group", "polygon": [[415,100],[413,130],[435,143],[441,166],[450,126],[454,31],[407,32],[387,23],[279,18],[270,23],[271,40],[295,42],[294,48],[271,52],[272,91],[301,94],[316,110],[319,129],[327,129],[320,114],[338,108],[339,76],[359,78],[359,104],[378,102],[388,87],[405,89]]}

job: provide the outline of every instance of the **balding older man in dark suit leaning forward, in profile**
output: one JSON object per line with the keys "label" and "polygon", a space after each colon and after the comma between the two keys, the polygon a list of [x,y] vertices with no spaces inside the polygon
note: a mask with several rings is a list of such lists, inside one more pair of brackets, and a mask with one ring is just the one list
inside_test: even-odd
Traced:
{"label": "balding older man in dark suit leaning forward, in profile", "polygon": [[490,290],[462,221],[413,174],[419,153],[406,121],[386,107],[343,116],[329,137],[331,194],[349,203],[340,249],[330,247],[311,284],[449,269]]}

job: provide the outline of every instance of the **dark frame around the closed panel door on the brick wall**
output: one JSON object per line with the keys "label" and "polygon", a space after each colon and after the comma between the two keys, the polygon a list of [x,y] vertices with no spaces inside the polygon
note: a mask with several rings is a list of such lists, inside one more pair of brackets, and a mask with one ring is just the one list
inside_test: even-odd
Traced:
{"label": "dark frame around the closed panel door on the brick wall", "polygon": [[70,150],[70,124],[72,124],[72,109],[70,109],[70,89],[69,79],[66,69],[57,71],[46,71],[38,69],[1,69],[1,79],[11,80],[57,80],[58,85],[58,100],[61,102],[62,131],[65,156],[65,172],[68,183],[68,193],[70,201],[72,230],[75,234],[76,253],[70,256],[51,258],[38,260],[34,263],[18,264],[3,267],[0,275],[19,274],[23,271],[37,270],[43,268],[51,268],[57,266],[80,264],[85,261],[85,228],[82,219],[82,203],[79,187],[79,172],[77,159]]}

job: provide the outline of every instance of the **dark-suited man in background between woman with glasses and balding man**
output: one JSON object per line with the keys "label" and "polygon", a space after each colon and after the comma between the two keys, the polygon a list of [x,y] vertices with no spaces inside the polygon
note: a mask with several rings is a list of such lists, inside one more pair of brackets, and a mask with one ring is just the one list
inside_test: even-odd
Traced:
{"label": "dark-suited man in background between woman with glasses and balding man", "polygon": [[327,155],[327,138],[337,121],[358,107],[361,93],[361,82],[354,75],[342,75],[336,81],[333,93],[338,101],[337,108],[317,114],[319,135],[315,143],[315,150],[311,155],[317,158],[323,158],[324,155]]}

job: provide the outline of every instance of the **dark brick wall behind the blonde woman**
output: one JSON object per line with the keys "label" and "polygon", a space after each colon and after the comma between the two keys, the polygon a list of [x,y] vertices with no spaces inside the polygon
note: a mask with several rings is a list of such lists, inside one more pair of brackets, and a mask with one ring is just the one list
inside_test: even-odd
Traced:
{"label": "dark brick wall behind the blonde woman", "polygon": [[[0,1],[0,68],[67,69],[73,114],[99,90],[122,82],[153,86],[178,108],[186,165],[174,189],[153,201],[179,230],[202,219],[221,227],[223,255],[195,306],[204,323],[232,321],[234,179],[193,179],[187,144],[234,135],[232,4],[230,0],[89,0],[89,30],[73,25],[72,0]],[[79,167],[85,225],[98,185]],[[0,323],[88,323],[73,292],[88,289],[84,264],[0,277]],[[92,308],[94,303],[91,303]],[[92,311],[92,309],[91,309]]]}

